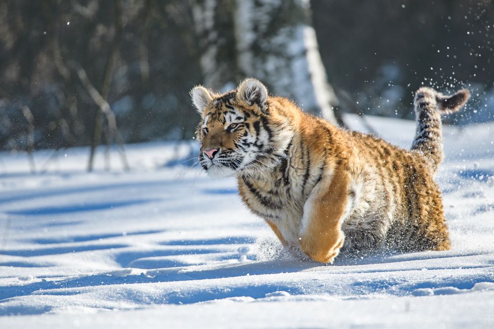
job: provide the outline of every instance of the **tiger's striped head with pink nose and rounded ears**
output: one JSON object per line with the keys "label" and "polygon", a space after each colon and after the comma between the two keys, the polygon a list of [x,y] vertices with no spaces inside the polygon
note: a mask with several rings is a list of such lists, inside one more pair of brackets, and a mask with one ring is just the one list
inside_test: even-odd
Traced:
{"label": "tiger's striped head with pink nose and rounded ears", "polygon": [[201,114],[196,130],[201,143],[199,162],[208,175],[262,172],[286,157],[292,129],[288,118],[270,104],[268,91],[258,80],[247,79],[221,95],[196,86],[191,96]]}

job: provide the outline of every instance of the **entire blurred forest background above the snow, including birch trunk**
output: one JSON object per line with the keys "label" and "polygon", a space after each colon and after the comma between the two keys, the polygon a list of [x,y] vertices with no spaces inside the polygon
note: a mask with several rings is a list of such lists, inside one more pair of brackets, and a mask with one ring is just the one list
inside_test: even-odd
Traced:
{"label": "entire blurred forest background above the snow, including birch trunk", "polygon": [[0,149],[189,140],[189,90],[250,76],[340,124],[412,118],[421,85],[489,121],[493,31],[491,0],[3,0]]}

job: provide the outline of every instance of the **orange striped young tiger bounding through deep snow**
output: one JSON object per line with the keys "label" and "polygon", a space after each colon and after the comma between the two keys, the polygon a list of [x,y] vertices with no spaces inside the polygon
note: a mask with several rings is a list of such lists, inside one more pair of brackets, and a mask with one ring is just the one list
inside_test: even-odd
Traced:
{"label": "orange striped young tiger bounding through deep snow", "polygon": [[308,114],[253,78],[230,92],[199,85],[190,94],[201,115],[202,168],[236,177],[244,204],[294,255],[333,263],[340,251],[451,248],[434,176],[443,159],[441,115],[463,107],[467,89],[416,91],[410,150]]}

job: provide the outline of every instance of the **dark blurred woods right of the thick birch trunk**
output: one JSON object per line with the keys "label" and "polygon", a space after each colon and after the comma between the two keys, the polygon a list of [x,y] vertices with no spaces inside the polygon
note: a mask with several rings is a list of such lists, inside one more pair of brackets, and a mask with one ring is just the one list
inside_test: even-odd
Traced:
{"label": "dark blurred woods right of the thick birch trunk", "polygon": [[364,113],[412,118],[412,94],[426,85],[473,91],[474,110],[460,112],[461,122],[494,118],[491,0],[313,0],[311,6],[331,83]]}

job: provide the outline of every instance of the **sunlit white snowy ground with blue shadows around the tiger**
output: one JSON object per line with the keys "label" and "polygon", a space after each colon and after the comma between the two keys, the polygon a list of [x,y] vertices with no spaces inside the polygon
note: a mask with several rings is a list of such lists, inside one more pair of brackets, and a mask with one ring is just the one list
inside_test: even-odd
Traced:
{"label": "sunlit white snowy ground with blue shadows around the tiger", "polygon": [[[414,123],[370,122],[411,144]],[[0,328],[494,328],[493,144],[494,124],[445,129],[451,251],[333,265],[290,259],[234,179],[165,166],[170,144],[128,146],[126,173],[0,153]]]}

